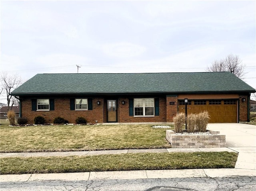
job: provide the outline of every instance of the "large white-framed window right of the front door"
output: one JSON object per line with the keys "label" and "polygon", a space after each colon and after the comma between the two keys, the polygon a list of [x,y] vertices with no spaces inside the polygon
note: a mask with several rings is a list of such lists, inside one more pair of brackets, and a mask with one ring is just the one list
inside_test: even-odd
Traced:
{"label": "large white-framed window right of the front door", "polygon": [[154,98],[134,98],[134,116],[154,116]]}

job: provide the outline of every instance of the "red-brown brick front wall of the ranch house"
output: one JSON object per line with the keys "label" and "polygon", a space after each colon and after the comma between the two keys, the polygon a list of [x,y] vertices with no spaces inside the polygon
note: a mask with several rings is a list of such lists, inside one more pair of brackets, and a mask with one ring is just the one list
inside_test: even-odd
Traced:
{"label": "red-brown brick front wall of the ranch house", "polygon": [[[186,95],[189,97],[190,95]],[[199,95],[197,95],[199,96]],[[232,95],[236,97],[237,95]],[[200,98],[202,95],[200,95]],[[217,98],[218,95],[206,95],[207,98]],[[228,96],[226,96],[228,97]],[[245,97],[246,101],[242,102],[241,99]],[[171,95],[159,98],[159,116],[145,116],[134,117],[129,116],[129,98],[119,97],[117,100],[117,122],[173,122],[173,117],[178,111],[178,98],[181,96]],[[248,96],[240,96],[239,110],[240,121],[247,121],[247,99]],[[30,98],[21,99],[21,114],[22,117],[28,118],[29,123],[33,123],[36,116],[43,116],[48,123],[53,123],[54,118],[60,116],[70,123],[75,123],[77,117],[82,116],[87,119],[88,122],[98,123],[107,122],[107,105],[106,98],[93,98],[92,110],[70,110],[70,98],[54,98],[54,110],[51,111],[32,111],[32,102]],[[125,104],[122,104],[122,100]],[[97,105],[97,101],[100,101],[100,105]]]}

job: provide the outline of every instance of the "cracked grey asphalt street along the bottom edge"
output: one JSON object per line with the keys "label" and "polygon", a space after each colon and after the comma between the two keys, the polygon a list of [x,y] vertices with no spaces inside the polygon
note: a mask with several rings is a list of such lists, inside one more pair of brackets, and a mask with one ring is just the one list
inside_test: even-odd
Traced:
{"label": "cracked grey asphalt street along the bottom edge", "polygon": [[254,191],[256,177],[2,182],[1,191]]}

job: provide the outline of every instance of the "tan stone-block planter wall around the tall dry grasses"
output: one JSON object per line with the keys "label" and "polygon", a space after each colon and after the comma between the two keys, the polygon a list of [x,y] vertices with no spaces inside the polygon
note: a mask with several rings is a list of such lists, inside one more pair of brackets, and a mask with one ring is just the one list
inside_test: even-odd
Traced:
{"label": "tan stone-block planter wall around the tall dry grasses", "polygon": [[209,131],[212,135],[176,135],[166,130],[166,139],[172,148],[218,148],[226,146],[226,135],[218,131]]}

